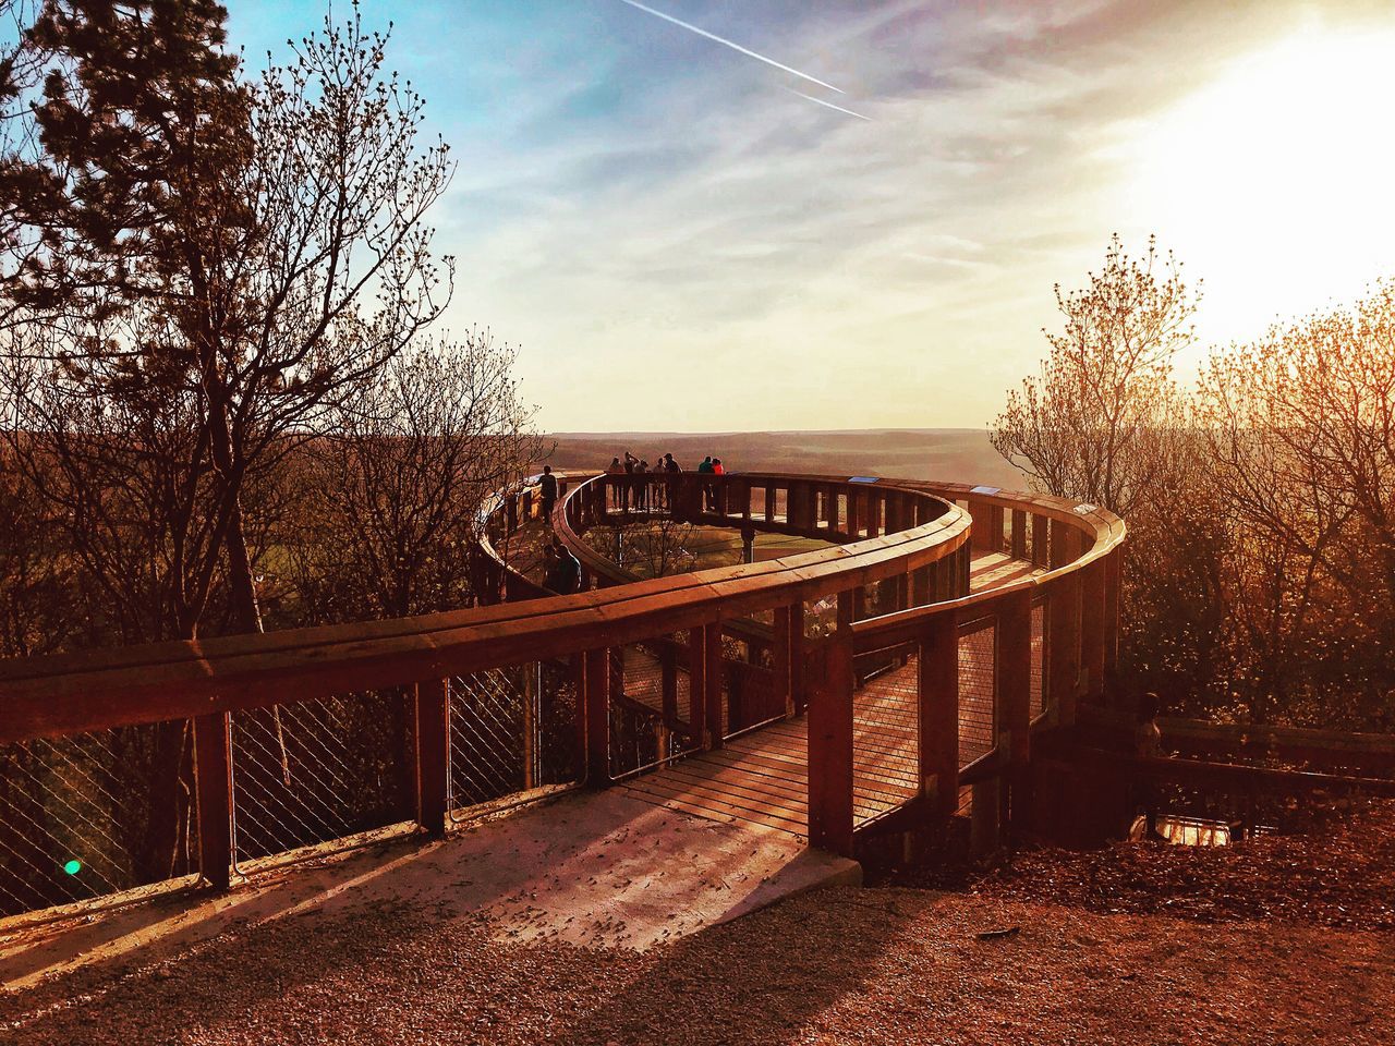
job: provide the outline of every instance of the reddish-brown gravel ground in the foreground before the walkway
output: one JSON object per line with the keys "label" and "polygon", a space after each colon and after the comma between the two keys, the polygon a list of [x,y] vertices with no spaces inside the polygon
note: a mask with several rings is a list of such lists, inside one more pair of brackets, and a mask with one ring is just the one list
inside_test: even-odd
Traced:
{"label": "reddish-brown gravel ground in the foreground before the walkway", "polygon": [[1388,1046],[1391,1000],[1389,933],[883,888],[643,954],[501,944],[421,909],[300,915],[0,999],[0,1040]]}

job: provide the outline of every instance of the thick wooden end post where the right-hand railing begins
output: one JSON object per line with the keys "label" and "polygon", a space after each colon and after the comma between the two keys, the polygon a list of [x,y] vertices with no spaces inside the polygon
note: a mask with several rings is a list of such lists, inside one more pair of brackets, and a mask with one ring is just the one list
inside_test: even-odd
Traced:
{"label": "thick wooden end post where the right-hand railing begins", "polygon": [[819,649],[809,693],[809,844],[852,856],[852,600]]}

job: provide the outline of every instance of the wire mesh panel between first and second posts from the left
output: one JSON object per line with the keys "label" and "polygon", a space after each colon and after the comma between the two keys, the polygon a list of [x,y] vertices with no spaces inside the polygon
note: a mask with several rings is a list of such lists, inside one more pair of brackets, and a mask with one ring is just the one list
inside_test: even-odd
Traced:
{"label": "wire mesh panel between first and second posts from the left", "polygon": [[232,715],[236,861],[407,820],[412,690],[368,690]]}

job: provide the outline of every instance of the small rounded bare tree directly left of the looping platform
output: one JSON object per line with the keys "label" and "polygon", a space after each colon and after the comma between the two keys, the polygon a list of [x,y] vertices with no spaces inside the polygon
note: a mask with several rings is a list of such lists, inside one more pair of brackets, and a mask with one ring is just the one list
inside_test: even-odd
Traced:
{"label": "small rounded bare tree directly left of the looping platform", "polygon": [[488,332],[424,342],[363,378],[306,448],[285,547],[312,621],[467,605],[480,509],[541,455],[515,351]]}

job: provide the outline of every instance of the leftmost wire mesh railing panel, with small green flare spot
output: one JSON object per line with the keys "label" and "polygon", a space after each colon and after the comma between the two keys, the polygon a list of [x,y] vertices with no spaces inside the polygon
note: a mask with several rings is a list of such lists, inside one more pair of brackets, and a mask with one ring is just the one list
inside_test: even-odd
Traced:
{"label": "leftmost wire mesh railing panel, with small green flare spot", "polygon": [[0,746],[0,916],[191,874],[187,720]]}

